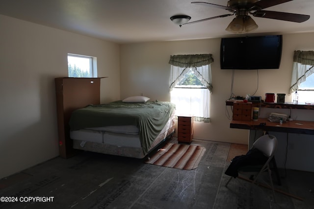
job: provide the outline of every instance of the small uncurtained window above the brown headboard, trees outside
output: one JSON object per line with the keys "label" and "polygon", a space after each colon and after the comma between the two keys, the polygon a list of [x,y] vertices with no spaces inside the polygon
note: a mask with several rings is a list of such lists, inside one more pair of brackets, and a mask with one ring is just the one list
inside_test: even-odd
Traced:
{"label": "small uncurtained window above the brown headboard, trees outside", "polygon": [[68,74],[69,77],[97,77],[97,58],[68,54]]}

